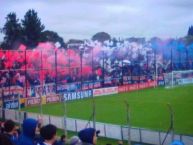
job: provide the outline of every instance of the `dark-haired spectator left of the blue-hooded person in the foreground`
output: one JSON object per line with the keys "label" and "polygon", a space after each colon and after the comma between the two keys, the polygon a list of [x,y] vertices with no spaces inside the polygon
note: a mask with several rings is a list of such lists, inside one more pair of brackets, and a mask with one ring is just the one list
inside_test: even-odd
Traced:
{"label": "dark-haired spectator left of the blue-hooded person in the foreground", "polygon": [[4,134],[8,137],[8,139],[13,143],[16,144],[18,140],[18,132],[15,122],[12,120],[7,120],[4,123]]}

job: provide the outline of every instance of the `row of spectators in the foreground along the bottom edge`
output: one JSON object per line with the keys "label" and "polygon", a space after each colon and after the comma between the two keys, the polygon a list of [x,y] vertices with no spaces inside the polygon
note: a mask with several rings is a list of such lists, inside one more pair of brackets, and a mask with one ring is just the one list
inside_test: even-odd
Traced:
{"label": "row of spectators in the foreground along the bottom edge", "polygon": [[[12,120],[1,123],[1,145],[96,145],[98,134],[94,128],[80,130],[77,136],[67,139],[61,135],[58,139],[57,127],[52,124],[42,125],[41,121],[32,118],[25,119],[22,128]],[[107,144],[111,145],[111,144]],[[118,145],[123,145],[122,141]]]}

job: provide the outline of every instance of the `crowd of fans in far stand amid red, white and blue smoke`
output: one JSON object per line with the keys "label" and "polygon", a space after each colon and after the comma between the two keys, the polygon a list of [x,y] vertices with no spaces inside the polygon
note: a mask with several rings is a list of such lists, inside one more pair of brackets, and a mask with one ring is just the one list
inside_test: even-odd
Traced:
{"label": "crowd of fans in far stand amid red, white and blue smoke", "polygon": [[[193,69],[193,50],[178,52],[141,40],[85,41],[78,47],[57,49],[52,43],[33,51],[0,51],[0,86],[76,84],[103,87],[132,84],[172,70]],[[138,77],[140,76],[140,77]]]}

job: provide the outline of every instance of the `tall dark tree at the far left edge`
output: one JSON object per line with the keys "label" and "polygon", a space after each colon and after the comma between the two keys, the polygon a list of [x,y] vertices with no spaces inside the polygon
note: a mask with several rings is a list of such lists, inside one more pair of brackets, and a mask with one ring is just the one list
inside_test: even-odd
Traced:
{"label": "tall dark tree at the far left edge", "polygon": [[5,35],[1,44],[3,49],[14,49],[14,44],[21,40],[21,25],[15,13],[9,13],[1,32]]}

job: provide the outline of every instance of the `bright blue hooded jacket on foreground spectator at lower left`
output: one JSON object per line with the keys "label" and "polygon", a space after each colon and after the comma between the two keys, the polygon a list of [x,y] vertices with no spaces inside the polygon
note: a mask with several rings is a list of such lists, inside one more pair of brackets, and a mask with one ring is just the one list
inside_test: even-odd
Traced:
{"label": "bright blue hooded jacket on foreground spectator at lower left", "polygon": [[35,119],[31,118],[23,121],[23,132],[18,138],[18,145],[34,145],[37,123]]}

